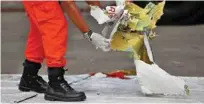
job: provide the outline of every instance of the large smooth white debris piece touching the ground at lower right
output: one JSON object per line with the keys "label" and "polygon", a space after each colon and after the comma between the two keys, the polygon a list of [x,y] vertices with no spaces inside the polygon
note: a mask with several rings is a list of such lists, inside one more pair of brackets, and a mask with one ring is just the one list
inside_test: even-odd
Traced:
{"label": "large smooth white debris piece touching the ground at lower right", "polygon": [[135,60],[137,77],[144,94],[186,95],[184,80],[172,76],[157,64]]}

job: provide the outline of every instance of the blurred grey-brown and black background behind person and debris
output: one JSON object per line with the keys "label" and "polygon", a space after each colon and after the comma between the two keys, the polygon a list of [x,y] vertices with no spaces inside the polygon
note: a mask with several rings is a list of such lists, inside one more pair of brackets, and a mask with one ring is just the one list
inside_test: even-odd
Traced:
{"label": "blurred grey-brown and black background behind person and debris", "polygon": [[[155,1],[154,1],[155,2]],[[84,1],[76,2],[90,28],[101,32],[87,12]],[[101,2],[104,6],[114,5],[114,1]],[[134,1],[144,6],[147,1]],[[156,2],[155,2],[156,3]],[[164,15],[155,30],[157,35],[152,43],[156,62],[168,73],[178,76],[204,76],[204,1],[167,1]],[[67,74],[88,72],[110,72],[117,69],[134,69],[133,60],[127,53],[95,50],[85,40],[79,30],[69,23],[69,42],[66,58]],[[29,22],[20,1],[1,1],[1,73],[22,72],[24,49],[29,31]],[[43,66],[41,74],[46,74]]]}

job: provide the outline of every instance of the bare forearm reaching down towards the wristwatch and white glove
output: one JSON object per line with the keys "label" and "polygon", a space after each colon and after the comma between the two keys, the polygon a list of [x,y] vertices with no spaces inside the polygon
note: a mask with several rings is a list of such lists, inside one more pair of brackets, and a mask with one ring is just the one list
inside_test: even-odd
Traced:
{"label": "bare forearm reaching down towards the wristwatch and white glove", "polygon": [[89,27],[80,14],[80,10],[77,8],[77,5],[74,1],[61,1],[61,6],[69,16],[69,18],[72,20],[72,22],[82,33],[89,31]]}

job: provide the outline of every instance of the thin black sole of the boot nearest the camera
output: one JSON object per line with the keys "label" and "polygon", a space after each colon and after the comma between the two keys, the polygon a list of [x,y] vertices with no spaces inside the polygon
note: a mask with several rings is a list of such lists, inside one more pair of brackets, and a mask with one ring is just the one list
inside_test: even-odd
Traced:
{"label": "thin black sole of the boot nearest the camera", "polygon": [[81,97],[77,97],[77,98],[61,98],[61,97],[56,97],[56,96],[52,96],[52,95],[45,95],[44,96],[45,100],[49,100],[49,101],[69,101],[69,102],[74,102],[74,101],[84,101],[86,99],[86,96],[81,96]]}

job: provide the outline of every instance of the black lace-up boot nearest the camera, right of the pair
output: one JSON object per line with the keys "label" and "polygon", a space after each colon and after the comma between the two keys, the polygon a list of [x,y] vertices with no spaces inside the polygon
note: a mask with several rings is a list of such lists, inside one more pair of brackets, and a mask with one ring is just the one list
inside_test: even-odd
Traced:
{"label": "black lace-up boot nearest the camera, right of the pair", "polygon": [[75,91],[64,79],[63,68],[49,68],[49,87],[45,93],[45,100],[49,101],[84,101],[84,92]]}

